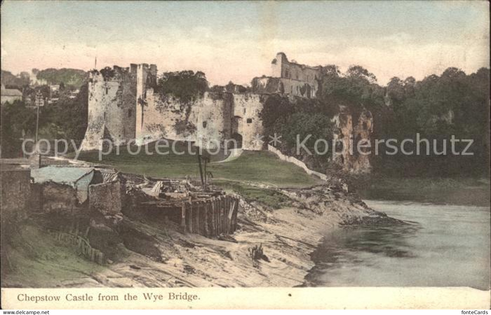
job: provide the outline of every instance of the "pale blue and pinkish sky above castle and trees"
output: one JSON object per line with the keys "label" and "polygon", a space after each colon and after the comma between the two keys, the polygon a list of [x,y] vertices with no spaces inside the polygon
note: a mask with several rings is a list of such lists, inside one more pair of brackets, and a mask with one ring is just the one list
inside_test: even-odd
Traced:
{"label": "pale blue and pinkish sky above castle and trees", "polygon": [[447,67],[489,67],[488,1],[11,1],[1,67],[89,70],[155,63],[211,84],[269,75],[277,52],[308,65],[361,65],[380,84]]}

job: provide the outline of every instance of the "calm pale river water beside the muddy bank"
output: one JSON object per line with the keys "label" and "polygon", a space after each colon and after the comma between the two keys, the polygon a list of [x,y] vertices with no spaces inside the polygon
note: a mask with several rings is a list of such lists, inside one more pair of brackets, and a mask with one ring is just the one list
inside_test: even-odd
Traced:
{"label": "calm pale river water beside the muddy bank", "polygon": [[327,234],[312,254],[310,285],[489,289],[489,207],[365,202],[409,224]]}

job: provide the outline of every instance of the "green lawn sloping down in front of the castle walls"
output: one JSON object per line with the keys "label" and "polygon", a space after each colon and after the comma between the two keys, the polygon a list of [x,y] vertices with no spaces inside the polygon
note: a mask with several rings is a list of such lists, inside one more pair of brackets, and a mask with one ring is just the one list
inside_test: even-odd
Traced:
{"label": "green lawn sloping down in front of the castle walls", "polygon": [[[180,151],[185,151],[186,148],[184,144],[176,147]],[[167,178],[183,178],[190,175],[193,178],[199,178],[196,155],[188,153],[158,155],[151,148],[149,152],[154,154],[149,155],[142,151],[138,155],[131,155],[126,148],[121,148],[119,155],[112,152],[103,156],[102,160],[99,160],[98,152],[82,152],[79,159],[110,164],[125,173]],[[223,158],[223,154],[220,154],[212,156],[211,160],[213,162]],[[241,157],[235,160],[225,163],[210,163],[207,170],[212,172],[215,181],[217,179],[235,182],[250,181],[283,187],[300,187],[321,183],[320,180],[306,174],[300,167],[281,161],[273,153],[267,151],[245,151]]]}

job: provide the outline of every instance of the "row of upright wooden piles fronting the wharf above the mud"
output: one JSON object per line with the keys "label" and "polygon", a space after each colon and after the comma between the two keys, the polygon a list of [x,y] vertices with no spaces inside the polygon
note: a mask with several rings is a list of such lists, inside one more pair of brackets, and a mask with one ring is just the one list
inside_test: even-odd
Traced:
{"label": "row of upright wooden piles fronting the wharf above the mud", "polygon": [[212,197],[203,201],[182,203],[181,229],[203,236],[231,234],[237,228],[239,199],[232,196]]}

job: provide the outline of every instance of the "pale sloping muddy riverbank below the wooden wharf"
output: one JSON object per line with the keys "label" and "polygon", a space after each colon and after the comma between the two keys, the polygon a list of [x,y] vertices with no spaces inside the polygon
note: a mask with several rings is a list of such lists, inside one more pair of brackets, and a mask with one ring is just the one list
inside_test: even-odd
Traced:
{"label": "pale sloping muddy riverbank below the wooden wharf", "polygon": [[[7,276],[5,284],[62,288],[308,286],[305,276],[314,266],[310,254],[327,232],[393,220],[338,186],[283,189],[281,193],[288,202],[280,209],[241,199],[239,228],[230,236],[208,238],[183,233],[173,222],[123,215],[119,224],[125,227],[124,242],[116,245],[113,251],[117,254],[105,265],[83,262],[85,269],[77,270],[61,260],[56,262],[58,268],[69,268],[75,276],[26,282],[22,275],[15,282]],[[258,247],[261,255],[253,255]]]}

